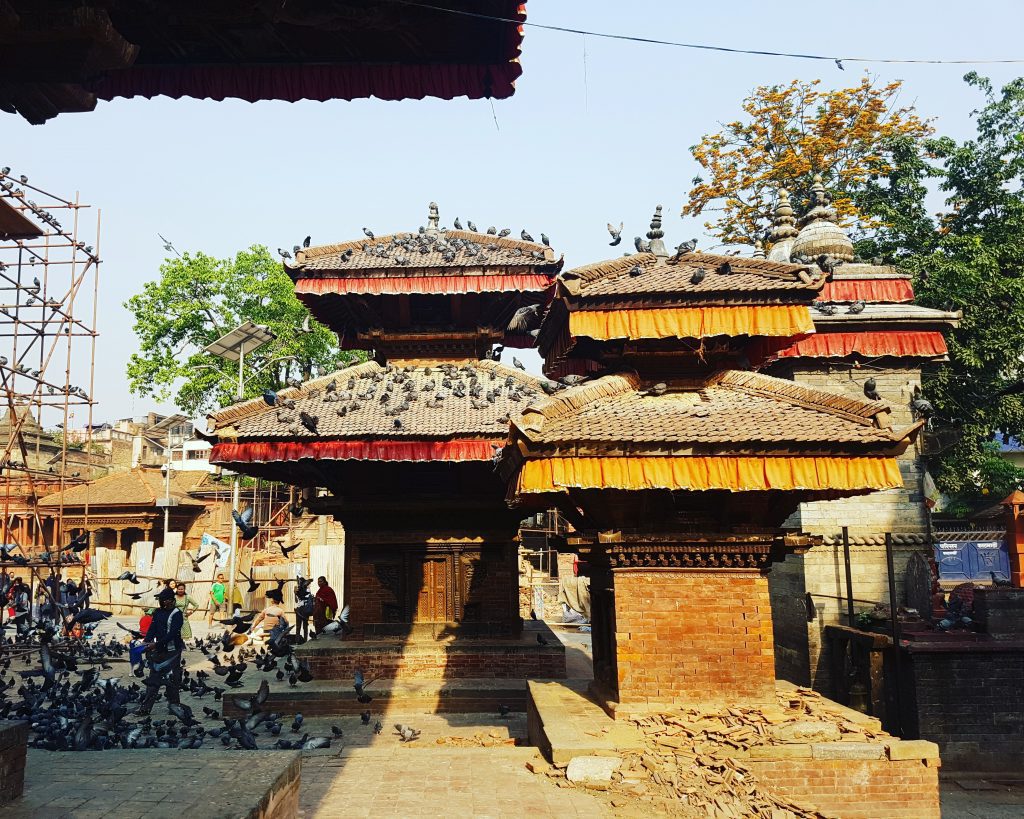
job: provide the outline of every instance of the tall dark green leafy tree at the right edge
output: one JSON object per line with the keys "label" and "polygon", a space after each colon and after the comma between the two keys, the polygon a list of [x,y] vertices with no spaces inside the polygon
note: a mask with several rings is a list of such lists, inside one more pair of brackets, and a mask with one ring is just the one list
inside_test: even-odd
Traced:
{"label": "tall dark green leafy tree at the right edge", "polygon": [[932,423],[961,433],[934,464],[938,485],[958,502],[991,503],[1024,478],[991,445],[996,432],[1024,434],[1024,78],[998,93],[975,73],[965,80],[985,96],[977,134],[927,143],[947,208],[931,233],[908,230],[895,244],[921,303],[964,311],[949,364],[925,385]]}

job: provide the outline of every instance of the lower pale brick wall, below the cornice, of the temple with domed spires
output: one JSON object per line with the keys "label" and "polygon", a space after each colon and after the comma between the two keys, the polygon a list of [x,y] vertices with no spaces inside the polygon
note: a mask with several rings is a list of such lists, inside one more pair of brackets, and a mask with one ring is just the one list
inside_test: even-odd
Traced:
{"label": "lower pale brick wall, below the cornice, of the temple with domed spires", "polygon": [[[857,543],[857,540],[861,540]],[[876,537],[874,540],[881,540]],[[889,603],[889,574],[885,546],[854,538],[850,546],[850,574],[853,580],[854,610],[870,608],[868,602]],[[896,544],[893,568],[896,600],[904,602],[903,574],[910,555],[927,546]],[[803,555],[790,555],[772,567],[768,575],[771,593],[772,627],[775,638],[775,673],[798,685],[810,685],[822,693],[831,692],[826,626],[847,624],[846,566],[843,546],[822,544]],[[807,619],[806,593],[814,602],[814,619]]]}

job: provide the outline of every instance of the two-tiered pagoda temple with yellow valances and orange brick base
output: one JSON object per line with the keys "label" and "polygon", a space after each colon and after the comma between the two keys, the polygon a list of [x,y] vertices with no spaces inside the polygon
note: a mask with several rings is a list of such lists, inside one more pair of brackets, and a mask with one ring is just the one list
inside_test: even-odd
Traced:
{"label": "two-tiered pagoda temple with yellow valances and orange brick base", "polygon": [[513,417],[500,469],[513,504],[577,525],[609,709],[771,700],[768,571],[820,542],[784,521],[902,486],[896,459],[924,422],[751,372],[814,333],[817,265],[669,253],[659,210],[647,239],[559,274],[547,371],[600,375]]}

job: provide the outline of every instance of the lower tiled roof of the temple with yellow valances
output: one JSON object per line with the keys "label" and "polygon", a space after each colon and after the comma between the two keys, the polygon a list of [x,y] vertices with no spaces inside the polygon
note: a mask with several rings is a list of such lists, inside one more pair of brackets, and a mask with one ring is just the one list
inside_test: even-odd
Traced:
{"label": "lower tiled roof of the temple with yellow valances", "polygon": [[[916,428],[889,429],[885,403],[808,389],[757,373],[723,371],[706,379],[669,382],[660,395],[634,375],[604,376],[536,401],[514,420],[530,442],[551,445],[794,443],[893,445]],[[726,446],[721,446],[726,444]],[[765,445],[768,445],[767,447]]]}

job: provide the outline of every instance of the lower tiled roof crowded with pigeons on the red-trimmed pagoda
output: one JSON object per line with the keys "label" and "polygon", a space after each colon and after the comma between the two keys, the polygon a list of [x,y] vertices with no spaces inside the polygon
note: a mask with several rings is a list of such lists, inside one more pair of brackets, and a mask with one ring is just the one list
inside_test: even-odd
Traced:
{"label": "lower tiled roof crowded with pigeons on the red-trimmed pagoda", "polygon": [[[444,386],[445,380],[450,386]],[[543,394],[541,383],[487,360],[408,367],[368,361],[284,389],[278,393],[276,406],[257,398],[225,407],[210,419],[221,441],[502,439],[508,432],[508,417],[517,416]],[[465,394],[460,397],[460,392]],[[385,395],[389,398],[382,401]],[[435,400],[438,395],[443,396],[440,401]],[[294,408],[282,405],[289,399]],[[317,419],[316,432],[302,425],[300,412]]]}

